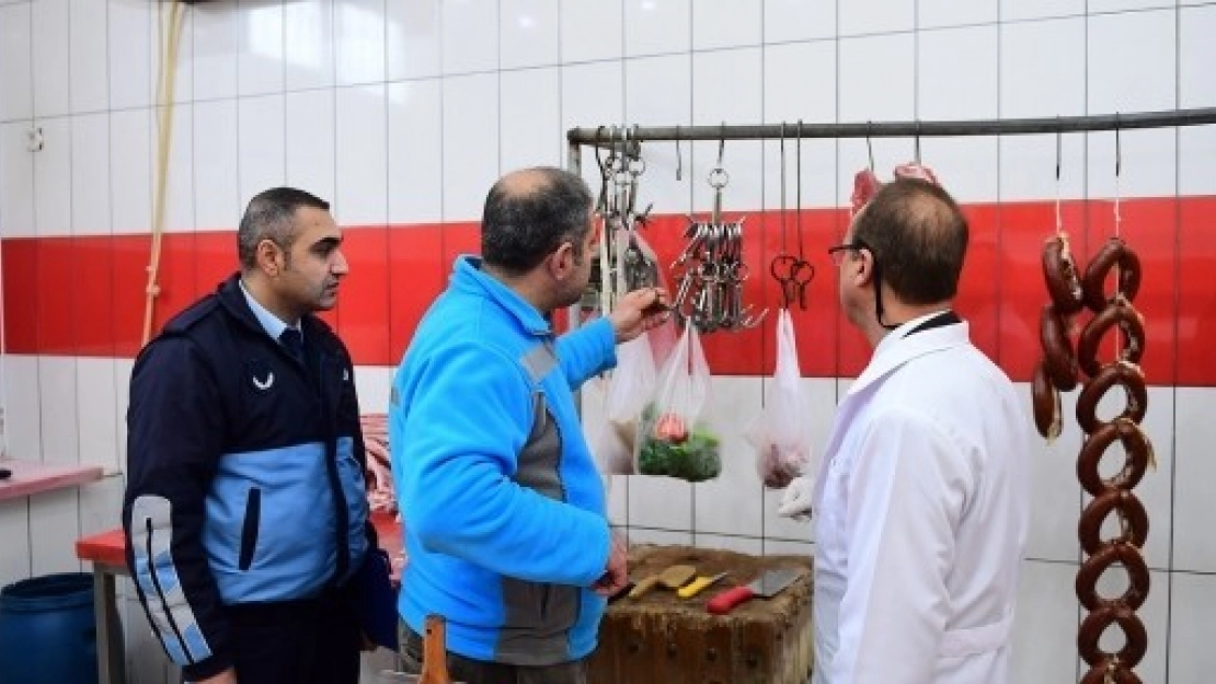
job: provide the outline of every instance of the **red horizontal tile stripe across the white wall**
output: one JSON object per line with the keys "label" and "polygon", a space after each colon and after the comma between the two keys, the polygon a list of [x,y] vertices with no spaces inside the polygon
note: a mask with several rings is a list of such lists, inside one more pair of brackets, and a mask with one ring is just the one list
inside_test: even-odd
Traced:
{"label": "red horizontal tile stripe across the white wall", "polygon": [[[964,208],[972,242],[957,307],[975,343],[1017,380],[1029,380],[1038,358],[1038,315],[1047,301],[1040,267],[1043,241],[1054,233],[1051,202],[973,204]],[[795,216],[783,241],[778,211],[750,211],[744,224],[744,305],[764,317],[753,329],[704,338],[710,367],[724,375],[767,375],[775,366],[773,324],[781,292],[769,272],[773,256],[796,254]],[[1144,278],[1136,306],[1148,330],[1144,372],[1154,385],[1216,386],[1216,198],[1125,199],[1119,233],[1136,249]],[[1109,202],[1062,205],[1064,228],[1081,265],[1114,234]],[[726,219],[734,219],[727,214]],[[804,256],[816,273],[806,310],[796,305],[799,362],[807,377],[855,377],[869,349],[837,305],[835,271],[824,250],[840,242],[848,213],[801,213]],[[683,216],[658,216],[648,239],[672,277],[683,248]],[[73,236],[2,241],[6,345],[11,354],[123,356],[139,351],[147,287],[150,236]],[[354,226],[343,249],[351,272],[339,303],[325,317],[347,340],[356,363],[393,366],[457,254],[477,251],[474,222]],[[163,238],[154,323],[210,292],[236,268],[231,230],[168,233]],[[674,287],[675,283],[669,283]],[[1079,324],[1083,321],[1079,321]],[[1113,354],[1113,343],[1108,344]]]}

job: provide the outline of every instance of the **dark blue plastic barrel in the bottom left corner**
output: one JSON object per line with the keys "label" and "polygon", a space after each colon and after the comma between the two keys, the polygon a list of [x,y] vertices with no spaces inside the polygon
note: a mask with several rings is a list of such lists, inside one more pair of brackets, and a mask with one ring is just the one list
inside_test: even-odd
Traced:
{"label": "dark blue plastic barrel in the bottom left corner", "polygon": [[92,575],[45,575],[0,590],[0,682],[96,684]]}

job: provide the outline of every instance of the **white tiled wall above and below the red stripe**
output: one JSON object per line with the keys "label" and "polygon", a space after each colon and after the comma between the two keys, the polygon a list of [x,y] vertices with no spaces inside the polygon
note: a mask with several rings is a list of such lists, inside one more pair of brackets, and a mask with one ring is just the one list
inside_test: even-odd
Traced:
{"label": "white tiled wall above and below the red stripe", "polygon": [[[152,221],[159,63],[157,2],[0,0],[0,234],[143,233]],[[1087,13],[1088,12],[1088,13]],[[563,132],[613,124],[713,125],[1054,117],[1216,106],[1216,4],[1207,0],[212,0],[186,11],[176,68],[169,228],[232,230],[270,185],[336,200],[348,225],[471,221],[500,173],[562,164]],[[26,151],[30,129],[45,148]],[[1110,134],[925,140],[968,202],[1107,197]],[[1216,194],[1216,129],[1128,131],[1124,196]],[[886,168],[912,141],[874,140]],[[865,141],[803,143],[806,207],[834,207],[866,163]],[[793,173],[794,149],[787,146]],[[709,205],[716,143],[646,148],[641,203]],[[591,154],[584,173],[591,179]],[[776,208],[779,145],[730,142],[726,207]],[[676,168],[682,180],[676,180]],[[787,200],[793,203],[793,179]],[[122,468],[129,358],[7,356],[5,435],[18,456]],[[368,409],[390,369],[359,371]],[[807,379],[816,443],[841,385]],[[1029,394],[1026,388],[1023,391]],[[1210,680],[1216,604],[1209,458],[1211,388],[1153,388],[1158,470],[1138,490],[1153,528],[1142,615],[1145,682]],[[726,435],[724,476],[688,485],[617,477],[613,520],[635,541],[749,553],[810,553],[810,528],[775,514],[744,450],[761,378],[716,378],[709,417]],[[589,430],[596,392],[584,408]],[[1065,414],[1071,413],[1065,398]],[[1075,680],[1073,589],[1080,435],[1037,443],[1015,682]],[[118,521],[122,477],[0,504],[0,581],[75,570],[72,542]],[[136,609],[137,611],[137,609]],[[129,622],[139,623],[133,612]],[[134,629],[141,682],[164,679]]]}

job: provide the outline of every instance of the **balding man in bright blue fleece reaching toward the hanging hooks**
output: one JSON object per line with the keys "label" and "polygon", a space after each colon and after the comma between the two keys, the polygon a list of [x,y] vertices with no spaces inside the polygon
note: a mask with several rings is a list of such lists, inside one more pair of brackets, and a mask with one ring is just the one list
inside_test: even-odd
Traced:
{"label": "balding man in bright blue fleece reaching toward the hanging hooks", "polygon": [[591,193],[559,169],[490,190],[482,258],[456,260],[393,383],[389,442],[409,555],[398,609],[406,668],[427,615],[447,621],[449,669],[467,684],[579,684],[604,597],[626,578],[573,391],[615,366],[615,345],[665,317],[666,293],[554,337],[596,253]]}

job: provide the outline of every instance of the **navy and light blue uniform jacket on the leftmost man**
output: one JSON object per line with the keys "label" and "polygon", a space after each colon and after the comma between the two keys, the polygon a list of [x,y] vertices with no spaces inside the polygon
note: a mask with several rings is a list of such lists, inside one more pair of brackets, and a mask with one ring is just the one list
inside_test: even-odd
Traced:
{"label": "navy and light blue uniform jacket on the leftmost man", "polygon": [[233,275],[135,361],[128,566],[187,679],[231,666],[224,606],[315,598],[375,542],[350,355],[315,316],[300,327],[303,364]]}

